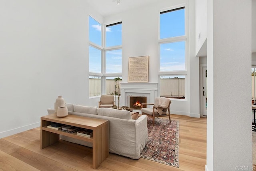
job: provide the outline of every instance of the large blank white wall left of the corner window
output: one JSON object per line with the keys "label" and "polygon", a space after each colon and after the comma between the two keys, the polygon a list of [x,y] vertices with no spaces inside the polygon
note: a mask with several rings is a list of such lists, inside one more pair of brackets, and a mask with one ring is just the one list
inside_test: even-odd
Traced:
{"label": "large blank white wall left of the corner window", "polygon": [[88,14],[84,0],[1,1],[0,138],[40,126],[58,95],[91,105]]}

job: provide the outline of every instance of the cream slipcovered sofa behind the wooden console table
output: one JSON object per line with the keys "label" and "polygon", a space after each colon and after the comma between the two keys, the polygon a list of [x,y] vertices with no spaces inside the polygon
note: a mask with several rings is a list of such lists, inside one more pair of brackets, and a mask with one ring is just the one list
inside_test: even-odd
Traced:
{"label": "cream slipcovered sofa behind the wooden console table", "polygon": [[[148,141],[147,116],[134,120],[130,111],[66,104],[68,114],[109,120],[109,152],[139,159]],[[91,143],[60,136],[60,139],[92,147]]]}

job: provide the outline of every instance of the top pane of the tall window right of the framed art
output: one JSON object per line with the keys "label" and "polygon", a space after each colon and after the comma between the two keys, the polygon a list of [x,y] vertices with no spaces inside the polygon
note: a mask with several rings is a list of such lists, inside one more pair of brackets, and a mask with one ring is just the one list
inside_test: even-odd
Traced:
{"label": "top pane of the tall window right of the framed art", "polygon": [[185,35],[185,8],[160,12],[160,39]]}

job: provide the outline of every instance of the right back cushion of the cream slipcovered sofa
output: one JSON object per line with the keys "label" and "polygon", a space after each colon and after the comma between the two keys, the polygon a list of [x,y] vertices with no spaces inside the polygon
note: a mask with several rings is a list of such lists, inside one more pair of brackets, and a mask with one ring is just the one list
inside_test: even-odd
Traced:
{"label": "right back cushion of the cream slipcovered sofa", "polygon": [[98,115],[116,117],[120,119],[132,119],[130,111],[117,110],[112,108],[99,108]]}

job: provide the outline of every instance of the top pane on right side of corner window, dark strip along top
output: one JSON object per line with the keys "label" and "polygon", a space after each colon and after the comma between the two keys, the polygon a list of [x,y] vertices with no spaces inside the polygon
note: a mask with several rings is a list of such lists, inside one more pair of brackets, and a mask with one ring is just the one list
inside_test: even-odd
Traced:
{"label": "top pane on right side of corner window, dark strip along top", "polygon": [[106,25],[106,47],[122,44],[122,22]]}

